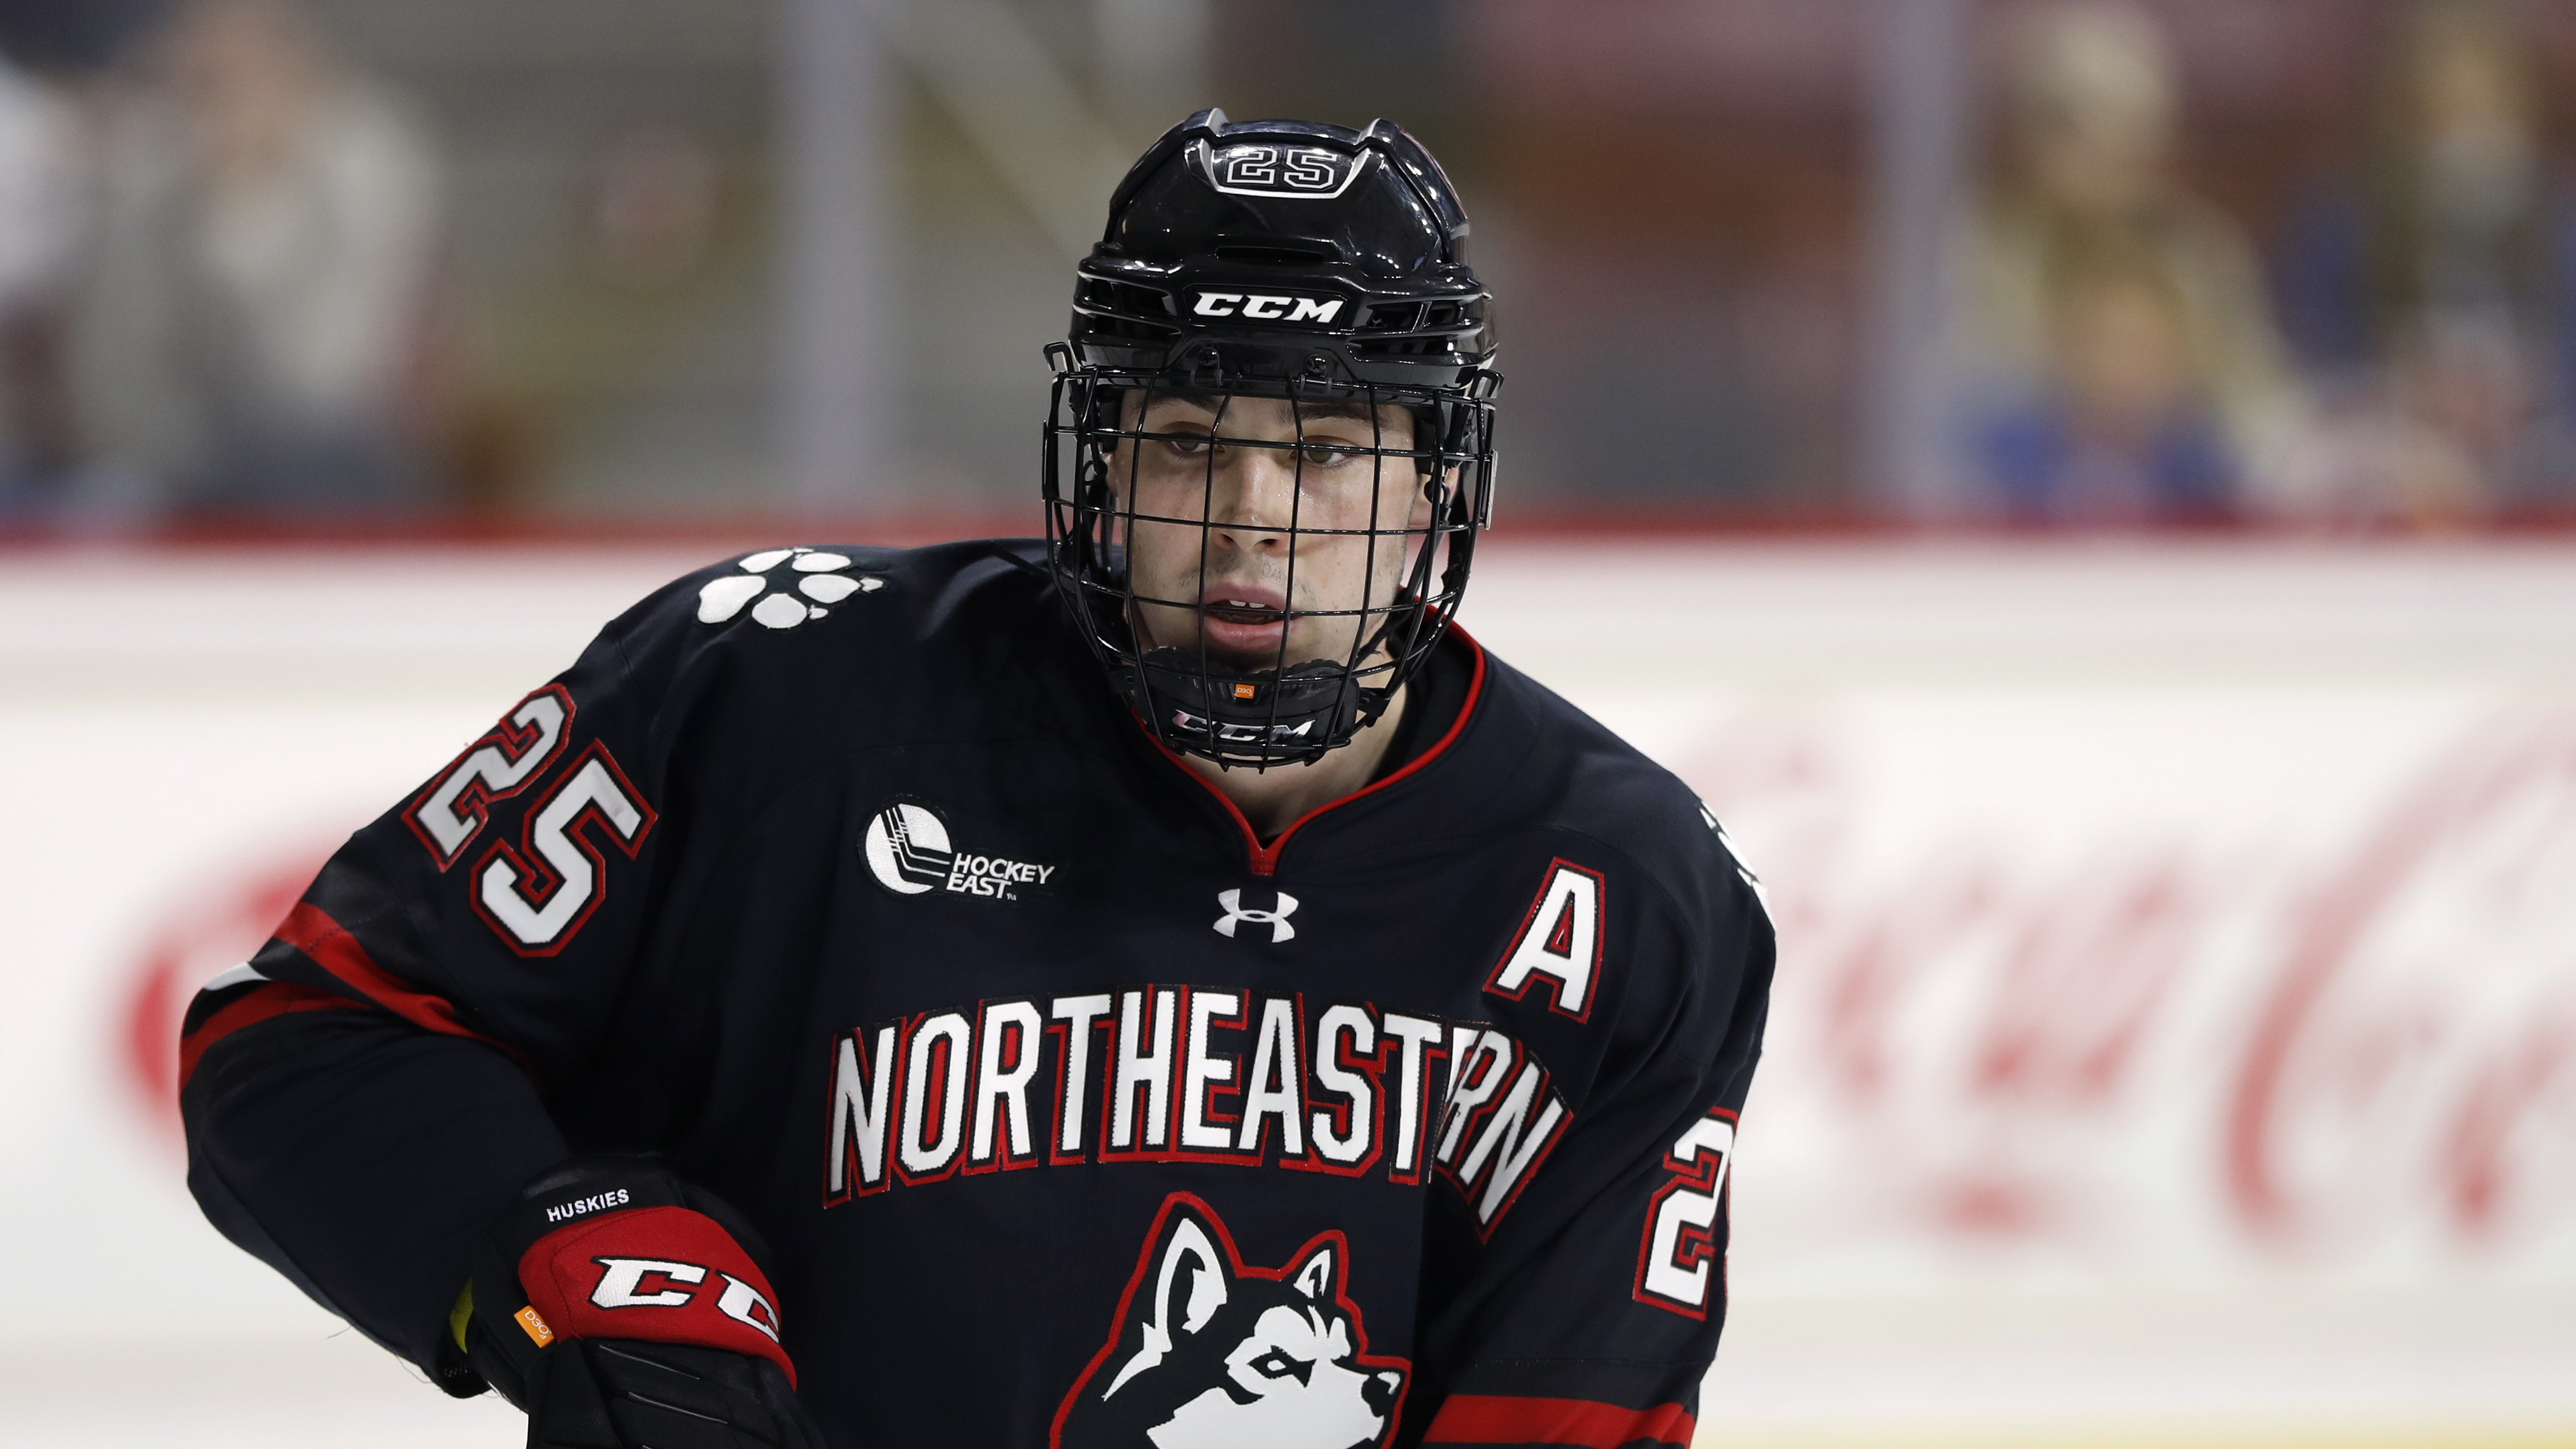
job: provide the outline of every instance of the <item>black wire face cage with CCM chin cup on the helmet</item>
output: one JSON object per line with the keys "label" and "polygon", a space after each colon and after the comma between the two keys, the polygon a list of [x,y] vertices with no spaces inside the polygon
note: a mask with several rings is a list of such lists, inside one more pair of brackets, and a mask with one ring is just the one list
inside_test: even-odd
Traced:
{"label": "black wire face cage with CCM chin cup on the helmet", "polygon": [[[1048,348],[1048,358],[1056,364],[1043,464],[1051,572],[1082,637],[1154,737],[1226,768],[1260,771],[1319,761],[1373,724],[1455,616],[1476,531],[1492,521],[1492,392],[1499,376],[1479,371],[1466,387],[1180,376],[1077,366],[1061,343]],[[1206,410],[1203,431],[1146,431],[1157,397],[1185,397]],[[1242,407],[1247,397],[1283,400],[1291,431],[1242,436],[1249,433],[1242,423],[1252,413]],[[1386,410],[1414,418],[1409,441],[1386,433]],[[1278,418],[1278,410],[1265,413]],[[1324,418],[1358,423],[1370,446],[1355,446],[1352,425],[1337,428],[1329,446],[1309,441],[1309,425]],[[1157,482],[1139,487],[1146,449],[1157,446],[1167,449],[1151,464]],[[1234,516],[1242,482],[1229,469],[1255,456],[1285,462],[1293,480],[1285,521]],[[1365,511],[1355,498],[1363,462]],[[1309,480],[1327,467],[1340,477],[1329,485]],[[1193,472],[1195,498],[1188,487]],[[1327,490],[1329,498],[1319,498]],[[1175,552],[1188,549],[1185,529],[1198,534],[1195,583],[1185,552],[1180,570],[1167,567]],[[1218,534],[1226,534],[1224,544]],[[1146,585],[1157,593],[1139,590],[1131,570],[1139,539],[1164,559],[1157,567],[1162,583]],[[1247,601],[1229,598],[1221,572],[1236,562],[1234,554],[1275,539],[1285,539],[1285,549],[1273,549],[1285,554],[1275,565],[1278,603],[1242,606]],[[1358,583],[1345,578],[1352,541]],[[1327,552],[1337,554],[1337,567],[1324,583],[1347,588],[1347,596],[1316,588],[1319,554]],[[1188,598],[1164,596],[1180,588]],[[1211,657],[1211,614],[1275,632],[1278,645],[1267,657],[1242,650]],[[1298,634],[1316,632],[1298,629],[1311,619],[1350,624],[1327,624],[1321,634],[1332,645],[1321,652],[1298,645]],[[1296,657],[1306,650],[1316,652]]]}

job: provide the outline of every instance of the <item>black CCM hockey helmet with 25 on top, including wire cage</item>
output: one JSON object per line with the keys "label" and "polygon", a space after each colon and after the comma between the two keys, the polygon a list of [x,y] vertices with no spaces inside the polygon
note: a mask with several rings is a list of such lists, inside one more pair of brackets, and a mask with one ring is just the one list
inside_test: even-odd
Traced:
{"label": "black CCM hockey helmet with 25 on top, including wire cage", "polygon": [[[1440,162],[1394,121],[1352,131],[1200,111],[1164,131],[1110,196],[1108,229],[1077,268],[1072,335],[1046,348],[1056,369],[1046,526],[1084,639],[1164,745],[1221,766],[1316,761],[1373,722],[1430,657],[1494,500],[1502,374],[1489,366],[1492,299],[1466,266],[1466,232]],[[1211,415],[1206,431],[1146,431],[1151,400],[1175,394]],[[1242,397],[1285,400],[1291,436],[1229,433]],[[1368,420],[1368,446],[1342,428],[1329,449],[1334,467],[1368,459],[1360,526],[1311,516],[1301,526],[1309,459],[1327,456],[1306,428],[1327,415]],[[1412,438],[1386,436],[1391,415],[1412,418]],[[1139,511],[1136,469],[1154,443],[1206,459],[1195,516]],[[1285,523],[1213,518],[1218,456],[1231,449],[1291,462]],[[1198,529],[1190,598],[1139,593],[1128,567],[1139,521]],[[1278,606],[1218,611],[1267,614],[1278,650],[1265,663],[1208,657],[1208,536],[1218,529],[1291,544]],[[1358,596],[1301,598],[1298,547],[1355,536],[1365,547]],[[1141,606],[1198,619],[1198,639],[1141,645]],[[1327,616],[1352,621],[1347,645],[1291,657],[1296,621]]]}

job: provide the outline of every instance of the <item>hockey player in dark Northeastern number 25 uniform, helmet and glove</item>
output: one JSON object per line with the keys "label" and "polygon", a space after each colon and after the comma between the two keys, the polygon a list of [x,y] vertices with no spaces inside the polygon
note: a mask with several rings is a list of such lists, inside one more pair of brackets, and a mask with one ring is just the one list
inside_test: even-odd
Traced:
{"label": "hockey player in dark Northeastern number 25 uniform, helmet and glove", "polygon": [[1772,936],[1453,627],[1466,232],[1386,121],[1172,129],[1046,541],[608,624],[196,1000],[206,1214],[531,1444],[1687,1444]]}

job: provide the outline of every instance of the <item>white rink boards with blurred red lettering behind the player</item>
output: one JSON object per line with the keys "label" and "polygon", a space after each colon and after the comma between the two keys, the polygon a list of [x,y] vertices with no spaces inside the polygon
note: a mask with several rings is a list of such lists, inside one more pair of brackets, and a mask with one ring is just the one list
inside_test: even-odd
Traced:
{"label": "white rink boards with blurred red lettering behind the player", "polygon": [[[520,1441],[196,1217],[170,1029],[698,562],[0,557],[0,1446]],[[2576,1444],[2576,547],[1502,541],[1463,619],[1772,890],[1700,1444]]]}

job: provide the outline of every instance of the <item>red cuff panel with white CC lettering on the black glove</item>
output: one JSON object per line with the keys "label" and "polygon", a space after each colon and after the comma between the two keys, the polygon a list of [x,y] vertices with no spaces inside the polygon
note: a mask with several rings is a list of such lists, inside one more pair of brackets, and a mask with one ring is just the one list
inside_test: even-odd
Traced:
{"label": "red cuff panel with white CC lettering on the black glove", "polygon": [[562,1338],[644,1338],[768,1359],[796,1387],[778,1343],[778,1294],[734,1235],[685,1207],[585,1217],[538,1238],[518,1261],[520,1318],[544,1348]]}

